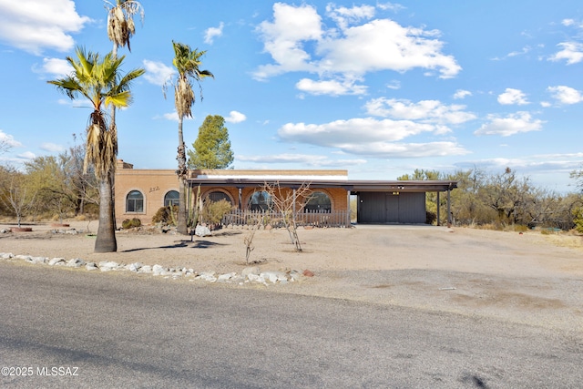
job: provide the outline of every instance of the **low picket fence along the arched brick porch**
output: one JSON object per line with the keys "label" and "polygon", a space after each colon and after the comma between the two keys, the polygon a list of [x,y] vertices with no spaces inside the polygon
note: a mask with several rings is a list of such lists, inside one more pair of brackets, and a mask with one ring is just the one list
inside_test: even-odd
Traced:
{"label": "low picket fence along the arched brick porch", "polygon": [[[223,226],[257,225],[261,221],[264,226],[283,227],[281,212],[271,210],[235,210],[223,216],[220,224]],[[333,212],[302,210],[296,212],[295,221],[298,226],[313,227],[350,227],[350,210]]]}

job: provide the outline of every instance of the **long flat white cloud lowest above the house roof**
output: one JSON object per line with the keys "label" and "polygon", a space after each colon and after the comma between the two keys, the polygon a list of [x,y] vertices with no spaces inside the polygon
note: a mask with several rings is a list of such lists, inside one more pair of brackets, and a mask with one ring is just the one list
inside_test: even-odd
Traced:
{"label": "long flat white cloud lowest above the house roof", "polygon": [[442,128],[412,120],[377,120],[353,118],[322,125],[288,123],[278,130],[281,140],[324,148],[338,148],[344,153],[375,158],[412,158],[460,155],[465,149],[454,142],[398,143],[423,133],[438,134]]}

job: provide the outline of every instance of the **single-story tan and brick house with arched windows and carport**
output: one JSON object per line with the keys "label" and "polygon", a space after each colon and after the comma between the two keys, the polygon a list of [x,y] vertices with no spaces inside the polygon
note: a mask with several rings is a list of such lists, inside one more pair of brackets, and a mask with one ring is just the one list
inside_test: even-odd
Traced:
{"label": "single-story tan and brick house with arched windows and carport", "polygon": [[[456,181],[449,180],[353,180],[347,170],[333,169],[191,170],[187,181],[193,191],[200,191],[201,199],[227,200],[234,211],[267,210],[266,183],[294,194],[307,185],[310,196],[297,200],[298,209],[335,215],[345,225],[350,224],[351,196],[356,196],[358,223],[424,223],[425,193],[446,192],[447,215],[451,215],[449,193],[457,187]],[[159,208],[178,204],[179,181],[174,170],[133,169],[118,160],[115,193],[118,224],[132,218],[148,223]]]}

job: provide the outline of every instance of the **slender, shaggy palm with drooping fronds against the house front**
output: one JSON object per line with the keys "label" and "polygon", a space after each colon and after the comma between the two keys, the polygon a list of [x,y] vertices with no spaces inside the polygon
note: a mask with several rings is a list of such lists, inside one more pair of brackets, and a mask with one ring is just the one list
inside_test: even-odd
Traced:
{"label": "slender, shaggy palm with drooping fronds against the house front", "polygon": [[[190,49],[190,46],[172,41],[174,46],[174,59],[172,64],[178,71],[178,76],[174,81],[174,105],[179,116],[179,148],[176,159],[179,162],[179,169],[176,174],[179,176],[179,220],[178,232],[188,233],[187,211],[186,211],[186,179],[188,168],[186,164],[186,145],[182,133],[182,122],[185,117],[192,118],[192,106],[195,96],[192,90],[192,80],[199,84],[200,99],[202,99],[202,87],[200,80],[205,77],[213,77],[209,70],[200,70],[202,62],[200,58],[206,54],[206,50],[198,51]],[[166,86],[165,86],[166,87]],[[165,94],[166,96],[166,94]]]}

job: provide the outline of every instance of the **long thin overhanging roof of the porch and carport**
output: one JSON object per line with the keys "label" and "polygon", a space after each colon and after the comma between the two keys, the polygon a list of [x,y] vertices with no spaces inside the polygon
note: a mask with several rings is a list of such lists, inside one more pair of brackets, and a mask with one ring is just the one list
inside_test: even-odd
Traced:
{"label": "long thin overhanging roof of the porch and carport", "polygon": [[339,188],[350,192],[370,191],[402,191],[402,192],[435,192],[447,191],[457,188],[454,180],[353,180],[353,179],[187,179],[191,187],[235,187],[235,188],[261,188],[265,183],[279,184],[282,188],[300,188],[303,184],[309,184],[312,189]]}

